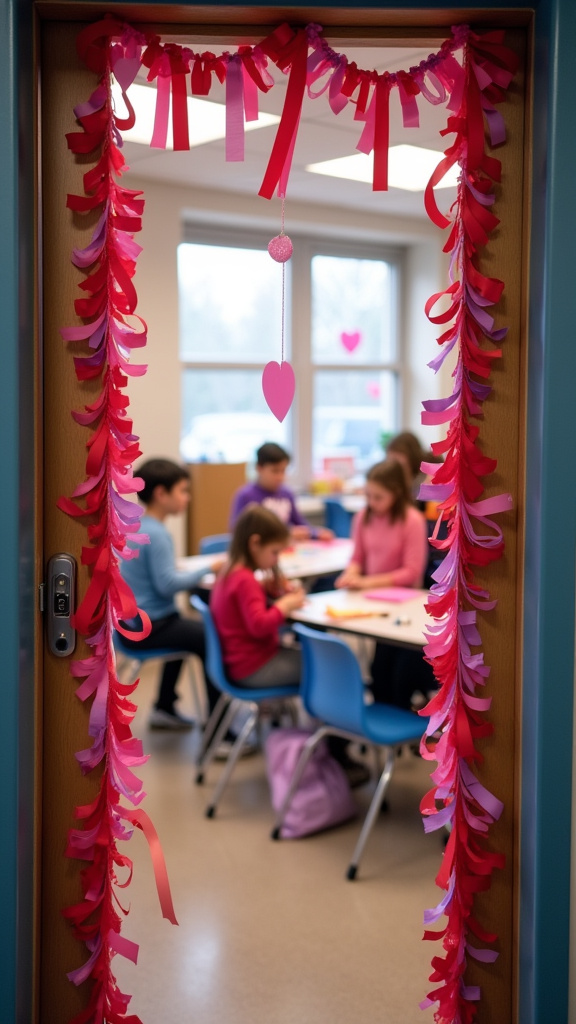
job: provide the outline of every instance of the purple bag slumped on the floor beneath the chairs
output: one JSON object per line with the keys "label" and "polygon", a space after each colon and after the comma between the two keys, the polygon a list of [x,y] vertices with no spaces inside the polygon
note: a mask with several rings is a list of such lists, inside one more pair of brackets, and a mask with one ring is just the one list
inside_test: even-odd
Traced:
{"label": "purple bag slumped on the floor beneath the chairs", "polygon": [[[273,729],[265,741],[268,778],[275,811],[280,810],[306,739],[306,729]],[[343,768],[331,756],[324,739],[314,751],[300,784],[292,797],[280,835],[283,839],[311,836],[348,821],[358,814]]]}

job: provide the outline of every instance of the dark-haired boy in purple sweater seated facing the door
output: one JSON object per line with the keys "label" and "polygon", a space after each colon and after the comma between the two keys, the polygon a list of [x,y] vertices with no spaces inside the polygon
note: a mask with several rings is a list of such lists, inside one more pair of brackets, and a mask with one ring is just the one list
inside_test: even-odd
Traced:
{"label": "dark-haired boy in purple sweater seated facing the door", "polygon": [[263,505],[285,523],[294,541],[308,538],[330,541],[334,537],[331,529],[311,526],[298,512],[294,495],[285,486],[284,478],[290,456],[280,444],[266,441],[256,452],[256,476],[254,483],[246,483],[236,492],[232,503],[230,528],[234,529],[242,510],[253,502]]}

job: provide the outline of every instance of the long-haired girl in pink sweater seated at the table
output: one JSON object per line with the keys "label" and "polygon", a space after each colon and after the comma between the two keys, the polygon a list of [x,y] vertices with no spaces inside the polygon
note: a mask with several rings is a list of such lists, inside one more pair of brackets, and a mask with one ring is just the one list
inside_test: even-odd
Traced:
{"label": "long-haired girl in pink sweater seated at the table", "polygon": [[[353,523],[354,550],[337,588],[372,590],[421,587],[428,558],[426,523],[411,502],[399,462],[379,462],[366,475],[366,508]],[[379,703],[410,708],[412,694],[436,688],[430,666],[419,651],[377,643],[370,667]]]}

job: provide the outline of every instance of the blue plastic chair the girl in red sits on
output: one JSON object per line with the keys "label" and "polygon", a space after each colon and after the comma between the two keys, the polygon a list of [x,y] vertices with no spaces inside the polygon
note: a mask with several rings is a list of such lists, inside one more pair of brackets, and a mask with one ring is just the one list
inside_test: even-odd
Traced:
{"label": "blue plastic chair the girl in red sits on", "polygon": [[[206,728],[204,739],[197,762],[196,781],[204,781],[204,774],[214,759],[220,740],[228,732],[236,713],[247,709],[248,715],[229,754],[224,769],[218,779],[212,799],[206,808],[206,817],[213,818],[218,801],[234,771],[236,762],[242,754],[242,749],[254,728],[263,701],[271,711],[282,710],[282,705],[298,696],[299,686],[269,686],[262,689],[246,689],[236,686],[225,674],[220,640],[216,632],[214,620],[208,605],[198,595],[191,598],[192,605],[202,615],[206,638],[206,671],[214,686],[220,691],[220,698],[214,708]],[[280,707],[279,707],[280,706]]]}

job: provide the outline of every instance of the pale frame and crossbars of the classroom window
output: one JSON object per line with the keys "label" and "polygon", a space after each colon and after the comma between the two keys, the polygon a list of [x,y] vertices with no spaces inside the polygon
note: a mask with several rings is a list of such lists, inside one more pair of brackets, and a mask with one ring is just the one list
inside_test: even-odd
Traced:
{"label": "pale frame and crossbars of the classroom window", "polygon": [[[279,229],[276,231],[279,233]],[[390,372],[397,378],[396,428],[403,422],[403,409],[407,388],[407,358],[404,336],[405,249],[385,243],[351,240],[345,236],[325,237],[290,228],[294,252],[290,259],[287,278],[285,308],[285,354],[294,369],[296,394],[292,407],[291,483],[304,489],[313,478],[312,434],[314,411],[314,378],[316,373],[348,373],[351,367],[343,362],[315,364],[312,354],[312,260],[314,256],[340,256],[352,259],[376,259],[390,266],[393,309],[393,337],[396,337],[396,357],[388,361],[355,364],[358,371]],[[274,237],[274,227],[231,227],[217,223],[182,220],[180,244],[224,246],[238,249],[266,249]],[[296,300],[297,296],[297,300]],[[280,315],[280,310],[279,310]],[[179,353],[179,342],[178,342]],[[280,352],[271,358],[280,359]],[[179,355],[180,373],[188,370],[263,370],[261,362],[183,359]],[[272,414],[271,414],[272,415]]]}

